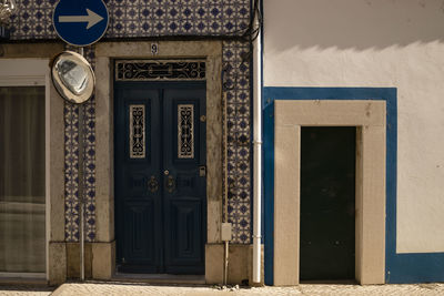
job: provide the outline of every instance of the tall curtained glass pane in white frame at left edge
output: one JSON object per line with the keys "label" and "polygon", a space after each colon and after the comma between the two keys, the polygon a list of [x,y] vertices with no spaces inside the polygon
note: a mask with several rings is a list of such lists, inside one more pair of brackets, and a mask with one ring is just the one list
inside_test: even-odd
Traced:
{"label": "tall curtained glass pane in white frame at left edge", "polygon": [[46,272],[44,86],[0,88],[0,272]]}

